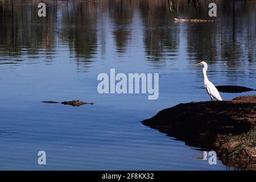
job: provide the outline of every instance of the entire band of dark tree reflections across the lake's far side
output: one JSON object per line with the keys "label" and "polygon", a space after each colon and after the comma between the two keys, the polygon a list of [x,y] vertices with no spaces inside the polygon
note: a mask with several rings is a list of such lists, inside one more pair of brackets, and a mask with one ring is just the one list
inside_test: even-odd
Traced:
{"label": "entire band of dark tree reflections across the lake's far side", "polygon": [[[104,56],[108,29],[113,32],[113,49],[123,53],[129,51],[137,27],[143,26],[144,51],[155,67],[176,59],[184,38],[189,60],[225,61],[229,67],[255,62],[255,1],[217,1],[216,23],[182,25],[172,19],[209,18],[209,2],[175,1],[170,12],[167,1],[47,1],[48,16],[43,19],[36,15],[36,3],[0,2],[2,57],[51,60],[59,38],[68,45],[77,67],[87,69],[97,51]],[[135,14],[143,24],[134,20]],[[106,21],[110,24],[104,25]]]}

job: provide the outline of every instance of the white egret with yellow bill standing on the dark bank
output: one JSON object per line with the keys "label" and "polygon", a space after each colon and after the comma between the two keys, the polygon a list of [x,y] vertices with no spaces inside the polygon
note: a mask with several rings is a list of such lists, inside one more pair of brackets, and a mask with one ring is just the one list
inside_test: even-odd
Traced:
{"label": "white egret with yellow bill standing on the dark bank", "polygon": [[218,101],[222,101],[222,98],[220,96],[220,93],[218,93],[218,90],[217,88],[213,85],[212,82],[210,82],[208,80],[208,77],[207,77],[207,69],[208,69],[208,65],[207,63],[205,63],[205,61],[202,61],[200,63],[197,63],[195,65],[203,65],[204,68],[203,68],[203,74],[204,74],[204,88],[207,90],[207,93],[209,94],[210,96],[210,100],[212,101],[212,98],[216,98],[216,100]]}

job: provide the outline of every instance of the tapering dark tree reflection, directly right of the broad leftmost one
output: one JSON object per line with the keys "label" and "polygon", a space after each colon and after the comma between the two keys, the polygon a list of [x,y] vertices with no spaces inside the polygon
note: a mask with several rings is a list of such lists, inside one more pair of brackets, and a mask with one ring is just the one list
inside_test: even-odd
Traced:
{"label": "tapering dark tree reflection, directly right of the broad leftmost one", "polygon": [[96,3],[64,3],[60,9],[60,38],[67,44],[77,67],[86,69],[97,51]]}

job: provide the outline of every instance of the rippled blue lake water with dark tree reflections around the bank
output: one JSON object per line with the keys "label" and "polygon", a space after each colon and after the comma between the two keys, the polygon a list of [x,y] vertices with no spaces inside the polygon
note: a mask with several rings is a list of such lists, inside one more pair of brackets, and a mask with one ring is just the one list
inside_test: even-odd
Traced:
{"label": "rippled blue lake water with dark tree reflections around the bank", "polygon": [[[208,101],[201,68],[215,85],[256,88],[255,1],[218,1],[213,23],[178,1],[0,1],[0,169],[233,170],[142,125],[180,102]],[[99,94],[97,76],[159,73],[159,98]],[[256,92],[221,93],[224,100]],[[82,100],[72,107],[41,101]],[[38,165],[38,151],[47,164]]]}

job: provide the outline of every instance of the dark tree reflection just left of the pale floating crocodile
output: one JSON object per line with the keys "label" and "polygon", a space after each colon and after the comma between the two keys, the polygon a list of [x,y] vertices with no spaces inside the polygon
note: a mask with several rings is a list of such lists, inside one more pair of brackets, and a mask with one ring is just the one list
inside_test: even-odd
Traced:
{"label": "dark tree reflection just left of the pale floating crocodile", "polygon": [[139,10],[144,23],[147,59],[156,67],[164,66],[165,59],[175,59],[177,54],[179,27],[174,24],[174,16],[165,1],[141,1]]}

